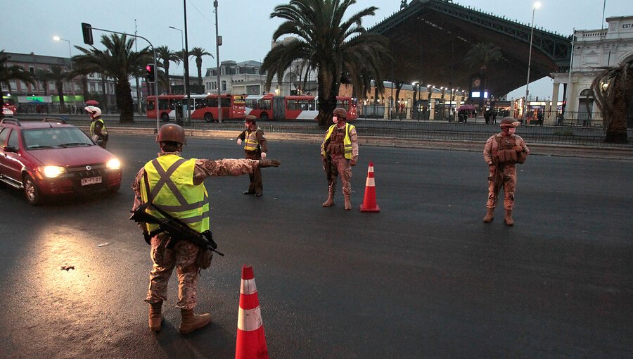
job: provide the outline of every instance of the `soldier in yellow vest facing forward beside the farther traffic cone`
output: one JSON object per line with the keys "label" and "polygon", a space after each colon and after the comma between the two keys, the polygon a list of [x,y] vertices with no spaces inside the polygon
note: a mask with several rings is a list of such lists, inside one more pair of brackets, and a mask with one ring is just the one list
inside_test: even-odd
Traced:
{"label": "soldier in yellow vest facing forward beside the farther traffic cone", "polygon": [[335,108],[332,121],[334,124],[326,132],[326,137],[321,144],[321,160],[323,160],[328,178],[328,199],[323,206],[329,207],[334,204],[336,180],[340,175],[340,180],[343,182],[345,210],[351,210],[352,166],[355,166],[358,160],[356,127],[347,123],[345,108]]}

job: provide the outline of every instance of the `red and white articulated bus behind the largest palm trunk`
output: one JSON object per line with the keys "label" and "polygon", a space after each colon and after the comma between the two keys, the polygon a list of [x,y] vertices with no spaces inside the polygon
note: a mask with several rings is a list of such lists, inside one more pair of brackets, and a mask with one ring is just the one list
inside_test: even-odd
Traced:
{"label": "red and white articulated bus behind the largest palm trunk", "polygon": [[[248,95],[245,102],[246,114],[262,120],[314,120],[319,115],[316,96]],[[351,97],[336,96],[336,107],[347,110],[347,120],[358,118],[356,103]]]}

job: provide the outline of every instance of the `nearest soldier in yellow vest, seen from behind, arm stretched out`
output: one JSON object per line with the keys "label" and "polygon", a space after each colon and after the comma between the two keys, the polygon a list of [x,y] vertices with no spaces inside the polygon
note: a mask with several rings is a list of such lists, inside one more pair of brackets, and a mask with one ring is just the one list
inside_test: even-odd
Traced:
{"label": "nearest soldier in yellow vest, seen from behind, arm stretched out", "polygon": [[[278,160],[269,159],[187,160],[181,157],[182,147],[186,144],[184,130],[173,123],[160,127],[156,142],[160,145],[158,158],[148,161],[136,174],[132,183],[132,210],[136,210],[143,203],[153,203],[198,233],[210,230],[210,205],[203,183],[205,178],[245,175],[260,167],[280,165]],[[162,217],[157,211],[149,208],[146,212]],[[210,258],[204,258],[207,251],[200,251],[196,244],[186,240],[177,240],[175,244],[170,244],[172,236],[168,232],[149,238],[148,233],[156,229],[156,225],[139,225],[143,229],[146,241],[151,244],[150,255],[153,262],[145,299],[150,305],[150,329],[155,332],[161,329],[162,303],[167,300],[167,284],[174,267],[177,270],[179,284],[176,307],[180,308],[182,317],[180,333],[187,334],[208,325],[211,322],[210,314],[193,313],[197,304],[196,291],[200,268],[208,267],[210,264]],[[204,261],[207,263],[203,264]]]}

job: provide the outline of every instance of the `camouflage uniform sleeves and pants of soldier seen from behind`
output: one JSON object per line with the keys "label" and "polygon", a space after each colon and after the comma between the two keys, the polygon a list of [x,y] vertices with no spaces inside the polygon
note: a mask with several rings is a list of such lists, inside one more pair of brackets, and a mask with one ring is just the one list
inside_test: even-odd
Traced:
{"label": "camouflage uniform sleeves and pants of soldier seen from behind", "polygon": [[[175,154],[180,156],[179,152],[159,153],[159,156]],[[252,173],[258,168],[258,160],[206,160],[198,159],[193,170],[193,184],[202,184],[207,177],[211,176],[237,176]],[[143,175],[145,169],[136,174],[136,178],[132,183],[134,189],[134,206],[132,210],[136,210],[142,204],[141,186],[143,185]],[[144,228],[144,224],[139,224]],[[200,268],[196,265],[198,257],[198,246],[189,241],[179,241],[173,249],[167,248],[170,236],[161,233],[151,239],[151,258],[153,267],[150,272],[150,284],[145,299],[148,303],[162,303],[167,300],[167,284],[174,267],[178,273],[178,302],[177,308],[191,310],[196,306],[196,289],[198,288],[198,279],[200,279]]]}

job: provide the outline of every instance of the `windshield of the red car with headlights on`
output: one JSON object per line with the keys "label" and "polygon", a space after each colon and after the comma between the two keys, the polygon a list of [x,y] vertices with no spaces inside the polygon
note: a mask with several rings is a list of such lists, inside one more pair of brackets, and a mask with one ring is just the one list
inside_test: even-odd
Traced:
{"label": "windshield of the red car with headlights on", "polygon": [[94,146],[90,138],[77,127],[49,127],[24,130],[26,149]]}

